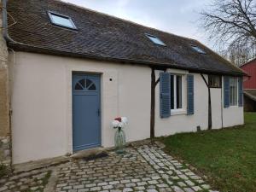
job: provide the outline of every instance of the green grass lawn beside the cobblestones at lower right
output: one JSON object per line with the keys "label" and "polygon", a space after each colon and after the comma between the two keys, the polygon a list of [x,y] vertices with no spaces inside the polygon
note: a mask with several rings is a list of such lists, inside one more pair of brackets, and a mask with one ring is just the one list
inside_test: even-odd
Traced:
{"label": "green grass lawn beside the cobblestones at lower right", "polygon": [[243,126],[182,133],[163,141],[173,156],[206,175],[213,188],[222,192],[256,191],[256,113],[245,113]]}

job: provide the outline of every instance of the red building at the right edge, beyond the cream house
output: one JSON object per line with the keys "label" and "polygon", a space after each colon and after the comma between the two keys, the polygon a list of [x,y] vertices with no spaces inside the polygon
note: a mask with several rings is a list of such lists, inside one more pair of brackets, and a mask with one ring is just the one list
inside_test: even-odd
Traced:
{"label": "red building at the right edge, beyond the cream house", "polygon": [[250,77],[243,82],[244,110],[256,112],[256,58],[241,66]]}

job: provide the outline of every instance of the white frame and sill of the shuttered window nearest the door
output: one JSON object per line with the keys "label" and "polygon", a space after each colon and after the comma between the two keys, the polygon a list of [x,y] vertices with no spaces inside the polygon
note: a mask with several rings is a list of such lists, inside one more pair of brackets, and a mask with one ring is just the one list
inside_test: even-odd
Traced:
{"label": "white frame and sill of the shuttered window nearest the door", "polygon": [[[171,110],[171,115],[173,114],[178,114],[178,113],[184,113],[185,112],[185,109],[184,109],[184,105],[185,105],[185,102],[184,102],[184,86],[185,86],[185,82],[184,82],[184,75],[183,74],[179,74],[179,73],[170,73],[170,76],[173,75],[173,106],[174,108],[170,109]],[[182,87],[181,87],[181,102],[182,102],[182,108],[177,108],[177,76],[180,76],[181,79],[182,79]],[[172,90],[172,87],[171,87],[171,90]],[[171,102],[172,102],[172,96],[171,96]]]}

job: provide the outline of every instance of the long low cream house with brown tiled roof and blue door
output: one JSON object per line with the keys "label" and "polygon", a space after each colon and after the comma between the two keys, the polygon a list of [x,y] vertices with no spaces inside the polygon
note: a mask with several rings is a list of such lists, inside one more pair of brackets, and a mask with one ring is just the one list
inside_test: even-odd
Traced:
{"label": "long low cream house with brown tiled roof and blue door", "polygon": [[58,0],[5,3],[13,164],[113,147],[118,116],[127,142],[243,124],[244,73],[200,42]]}

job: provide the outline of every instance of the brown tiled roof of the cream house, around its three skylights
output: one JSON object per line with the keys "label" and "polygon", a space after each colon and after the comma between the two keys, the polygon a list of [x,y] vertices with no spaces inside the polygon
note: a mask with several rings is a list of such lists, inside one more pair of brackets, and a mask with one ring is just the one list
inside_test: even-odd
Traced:
{"label": "brown tiled roof of the cream house, around its three skylights", "polygon": [[[78,30],[54,26],[48,11],[72,18]],[[190,38],[141,26],[58,0],[9,0],[9,15],[17,23],[9,27],[9,47],[25,51],[125,61],[155,67],[184,68],[204,73],[243,72],[229,61]],[[9,24],[13,20],[9,18]],[[153,44],[145,33],[160,38],[166,46]],[[207,54],[199,54],[191,44]]]}

